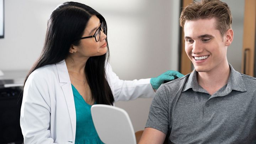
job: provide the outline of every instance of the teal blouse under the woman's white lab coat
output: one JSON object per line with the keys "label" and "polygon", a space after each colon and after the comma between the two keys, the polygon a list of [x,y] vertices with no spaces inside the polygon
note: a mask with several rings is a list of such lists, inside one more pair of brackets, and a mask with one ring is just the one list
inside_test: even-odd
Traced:
{"label": "teal blouse under the woman's white lab coat", "polygon": [[104,144],[101,142],[91,117],[91,105],[85,102],[72,85],[76,110],[75,144]]}

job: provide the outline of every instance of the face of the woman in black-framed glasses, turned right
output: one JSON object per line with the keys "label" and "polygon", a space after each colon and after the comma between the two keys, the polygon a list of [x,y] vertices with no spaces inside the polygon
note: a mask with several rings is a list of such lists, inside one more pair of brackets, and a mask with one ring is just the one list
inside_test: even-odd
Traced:
{"label": "face of the woman in black-framed glasses, turned right", "polygon": [[[97,16],[92,16],[88,23],[87,27],[84,30],[82,37],[88,37],[95,34],[95,32],[100,27],[101,23]],[[95,41],[95,38],[85,38],[80,40],[80,44],[76,47],[77,54],[85,57],[93,57],[103,55],[107,52],[107,43],[106,43],[106,34],[100,31],[100,39],[98,42]]]}

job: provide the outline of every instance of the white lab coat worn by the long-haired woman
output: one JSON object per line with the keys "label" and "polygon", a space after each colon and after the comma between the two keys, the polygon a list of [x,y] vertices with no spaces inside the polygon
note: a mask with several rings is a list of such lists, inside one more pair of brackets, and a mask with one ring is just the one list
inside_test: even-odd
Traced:
{"label": "white lab coat worn by the long-haired woman", "polygon": [[[108,64],[106,75],[115,101],[154,96],[150,79],[120,80]],[[20,124],[25,144],[75,143],[75,103],[64,60],[30,74],[24,86]]]}

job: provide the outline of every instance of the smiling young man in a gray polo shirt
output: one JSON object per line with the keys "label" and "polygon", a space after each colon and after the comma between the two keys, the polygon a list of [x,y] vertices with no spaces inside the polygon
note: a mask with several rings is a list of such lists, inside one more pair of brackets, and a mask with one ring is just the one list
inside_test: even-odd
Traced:
{"label": "smiling young man in a gray polo shirt", "polygon": [[219,0],[202,0],[181,13],[185,50],[194,70],[160,86],[139,144],[256,143],[256,78],[228,63],[232,16]]}

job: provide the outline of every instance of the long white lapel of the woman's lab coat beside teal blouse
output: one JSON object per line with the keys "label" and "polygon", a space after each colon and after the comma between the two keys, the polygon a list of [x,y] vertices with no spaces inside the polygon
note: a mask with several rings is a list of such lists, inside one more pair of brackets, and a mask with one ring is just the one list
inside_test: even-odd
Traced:
{"label": "long white lapel of the woman's lab coat beside teal blouse", "polygon": [[65,100],[66,100],[66,105],[68,106],[68,111],[69,111],[69,116],[71,120],[72,131],[73,131],[73,138],[75,138],[75,131],[76,131],[75,102],[74,102],[73,91],[72,91],[71,82],[68,74],[68,69],[66,67],[65,60],[57,63],[56,66],[57,66],[60,86],[62,87]]}

